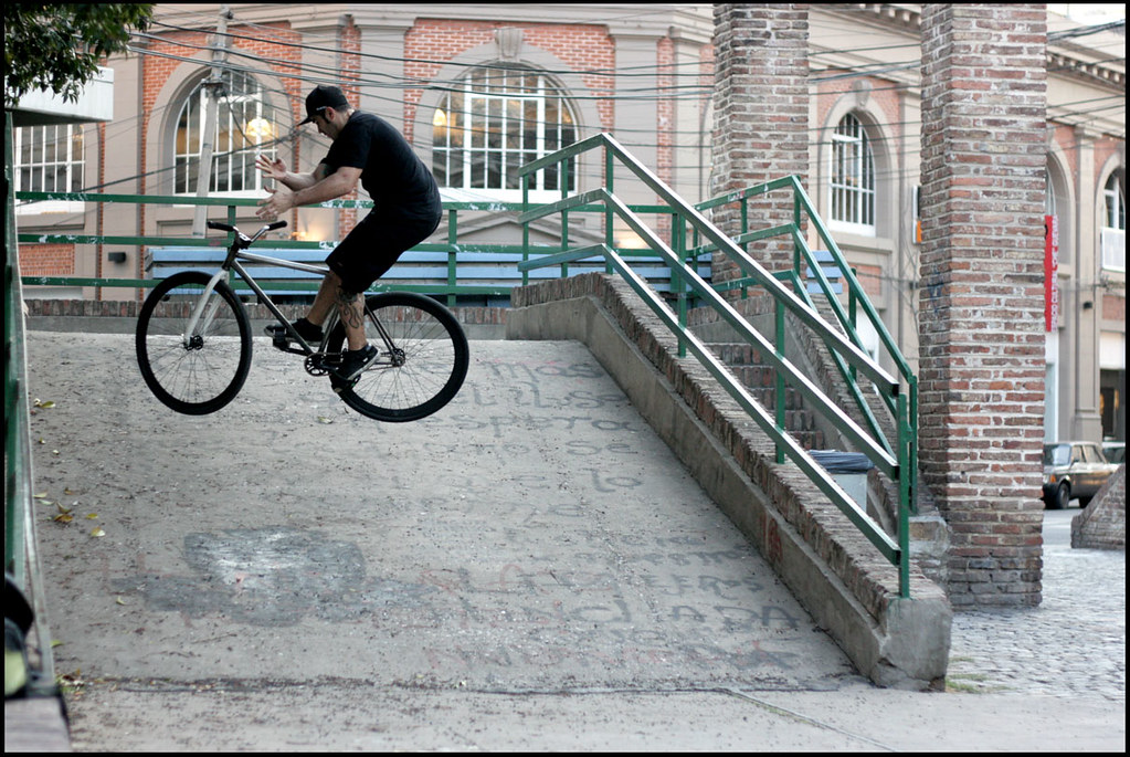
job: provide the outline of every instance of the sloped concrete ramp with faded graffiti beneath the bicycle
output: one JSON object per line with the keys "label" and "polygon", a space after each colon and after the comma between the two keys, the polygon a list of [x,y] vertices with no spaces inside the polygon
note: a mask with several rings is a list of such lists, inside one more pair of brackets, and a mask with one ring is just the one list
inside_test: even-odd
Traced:
{"label": "sloped concrete ramp with faded graffiti beneath the bicycle", "polygon": [[862,680],[576,342],[473,341],[462,393],[407,425],[349,411],[266,339],[203,417],[148,393],[131,336],[28,342],[61,673],[292,694]]}

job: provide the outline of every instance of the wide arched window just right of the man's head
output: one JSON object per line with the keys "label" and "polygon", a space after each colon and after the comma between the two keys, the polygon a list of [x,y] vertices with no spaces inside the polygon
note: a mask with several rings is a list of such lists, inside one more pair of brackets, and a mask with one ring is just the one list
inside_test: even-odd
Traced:
{"label": "wide arched window just right of the man's head", "polygon": [[[576,141],[576,119],[556,86],[521,67],[479,68],[440,102],[432,119],[432,171],[441,186],[521,199],[518,169]],[[562,189],[556,168],[531,179],[532,192]],[[568,186],[576,188],[575,162]]]}

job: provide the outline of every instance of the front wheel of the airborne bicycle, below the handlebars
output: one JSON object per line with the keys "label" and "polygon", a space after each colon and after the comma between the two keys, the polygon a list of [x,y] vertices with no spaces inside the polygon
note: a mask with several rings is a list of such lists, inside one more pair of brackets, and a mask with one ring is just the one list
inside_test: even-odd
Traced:
{"label": "front wheel of the airborne bicycle, below the handlebars", "polygon": [[154,287],[138,315],[141,377],[158,400],[193,416],[231,402],[251,368],[251,321],[227,284],[217,282],[188,333],[210,278],[203,271],[174,273]]}

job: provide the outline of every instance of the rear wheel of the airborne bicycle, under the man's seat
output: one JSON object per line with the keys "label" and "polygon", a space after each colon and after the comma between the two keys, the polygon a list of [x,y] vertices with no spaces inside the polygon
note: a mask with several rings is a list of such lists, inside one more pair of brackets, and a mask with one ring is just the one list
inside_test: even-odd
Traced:
{"label": "rear wheel of the airborne bicycle, under the man's seat", "polygon": [[[406,292],[367,297],[365,336],[381,351],[373,365],[351,385],[330,376],[334,391],[357,412],[390,423],[419,420],[447,404],[463,385],[470,362],[467,336],[451,311],[431,297]],[[345,337],[339,323],[330,332],[329,351],[341,350]]]}

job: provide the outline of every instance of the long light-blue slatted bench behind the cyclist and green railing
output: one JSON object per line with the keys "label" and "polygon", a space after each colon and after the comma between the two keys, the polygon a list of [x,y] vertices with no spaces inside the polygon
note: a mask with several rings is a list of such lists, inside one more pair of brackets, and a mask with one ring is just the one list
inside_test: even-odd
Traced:
{"label": "long light-blue slatted bench behind the cyclist and green railing", "polygon": [[[251,252],[269,258],[280,258],[298,263],[320,266],[329,254],[324,250],[293,250],[254,247]],[[223,247],[151,247],[146,260],[146,270],[155,279],[167,278],[185,270],[215,270],[227,254]],[[547,253],[548,254],[548,253]],[[522,273],[518,263],[522,260],[519,252],[480,252],[459,251],[455,262],[455,284],[459,287],[473,287],[475,290],[496,289],[508,294],[510,289],[522,286]],[[436,294],[446,292],[449,285],[449,255],[442,250],[409,250],[400,260],[381,277],[381,281],[391,285],[436,288]],[[244,266],[269,295],[311,295],[312,288],[288,287],[288,281],[313,282],[320,279],[316,273],[296,271],[279,266],[244,262]],[[670,271],[659,261],[635,259],[633,269],[647,279],[659,292],[670,290]],[[570,263],[568,275],[603,271],[603,259]],[[699,259],[698,275],[710,279],[710,258]],[[539,268],[530,271],[531,282],[556,279],[560,277],[560,267]]]}

